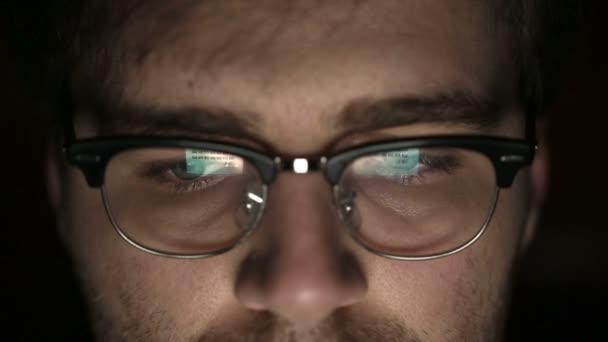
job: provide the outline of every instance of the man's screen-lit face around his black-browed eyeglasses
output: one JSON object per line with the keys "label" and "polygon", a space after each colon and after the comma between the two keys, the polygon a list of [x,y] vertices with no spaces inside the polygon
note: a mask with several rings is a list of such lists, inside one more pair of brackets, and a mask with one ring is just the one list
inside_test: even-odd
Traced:
{"label": "man's screen-lit face around his black-browed eyeglasses", "polygon": [[[138,122],[160,122],[161,133],[292,157],[412,136],[523,138],[510,50],[485,3],[152,1],[120,32],[110,55],[124,63],[110,73],[121,108],[155,114],[95,113],[82,102],[79,137],[148,133]],[[366,120],[365,111],[336,124],[345,108],[454,94],[491,103],[484,113],[491,124],[439,114]],[[207,118],[196,115],[205,108],[248,124],[209,134]],[[180,110],[190,113],[187,124],[159,118]],[[212,125],[224,127],[221,120]],[[254,234],[206,259],[154,256],[125,243],[99,189],[75,168],[54,201],[64,208],[62,228],[101,340],[496,341],[530,216],[528,178],[520,171],[501,192],[471,247],[415,262],[373,255],[353,241],[319,173],[279,175]]]}

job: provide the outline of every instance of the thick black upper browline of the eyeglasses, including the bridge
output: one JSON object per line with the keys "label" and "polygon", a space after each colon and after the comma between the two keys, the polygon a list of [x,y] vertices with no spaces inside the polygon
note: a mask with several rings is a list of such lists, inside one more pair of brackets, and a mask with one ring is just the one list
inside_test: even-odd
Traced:
{"label": "thick black upper browline of the eyeglasses, including the bridge", "polygon": [[[266,185],[272,183],[278,172],[293,171],[294,160],[303,159],[281,159],[278,156],[272,157],[253,149],[227,143],[158,136],[81,139],[66,146],[66,155],[72,165],[82,170],[89,186],[98,188],[104,183],[105,169],[112,157],[126,150],[151,147],[189,148],[233,154],[250,162],[260,173],[261,179]],[[428,147],[463,148],[485,155],[494,166],[496,185],[500,188],[511,186],[517,172],[532,162],[536,149],[530,142],[522,139],[479,135],[442,135],[371,143],[317,160],[306,160],[309,172],[322,171],[328,183],[334,186],[340,180],[346,167],[357,158],[387,151]]]}

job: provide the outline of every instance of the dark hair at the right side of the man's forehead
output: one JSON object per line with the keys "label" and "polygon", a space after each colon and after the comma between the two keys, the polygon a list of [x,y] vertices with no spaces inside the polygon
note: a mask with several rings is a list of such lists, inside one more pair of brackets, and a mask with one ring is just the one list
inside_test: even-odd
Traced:
{"label": "dark hair at the right side of the man's forehead", "polygon": [[582,7],[576,0],[500,2],[498,19],[511,40],[521,99],[542,115],[568,80]]}

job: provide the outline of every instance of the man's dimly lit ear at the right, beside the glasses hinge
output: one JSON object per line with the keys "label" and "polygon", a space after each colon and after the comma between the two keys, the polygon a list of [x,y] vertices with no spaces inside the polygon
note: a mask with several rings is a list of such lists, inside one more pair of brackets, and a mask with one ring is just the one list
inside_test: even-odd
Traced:
{"label": "man's dimly lit ear at the right, beside the glasses hinge", "polygon": [[526,249],[534,237],[541,209],[547,193],[548,173],[549,173],[549,147],[545,134],[545,122],[537,123],[538,150],[534,161],[530,166],[530,210],[526,228],[522,236],[522,247]]}

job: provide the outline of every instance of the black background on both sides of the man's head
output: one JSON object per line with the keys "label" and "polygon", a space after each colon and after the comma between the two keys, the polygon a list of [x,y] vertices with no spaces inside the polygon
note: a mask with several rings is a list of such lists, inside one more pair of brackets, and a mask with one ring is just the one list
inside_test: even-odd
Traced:
{"label": "black background on both sides of the man's head", "polygon": [[[549,192],[537,238],[517,274],[508,341],[606,340],[608,18],[599,1],[585,6],[570,80],[548,111]],[[0,340],[88,341],[80,292],[46,204],[48,127],[18,90],[20,75],[3,31],[0,99],[10,118],[3,131],[11,131],[4,134],[3,174],[11,193],[4,197],[9,215],[0,240],[8,303]]]}

